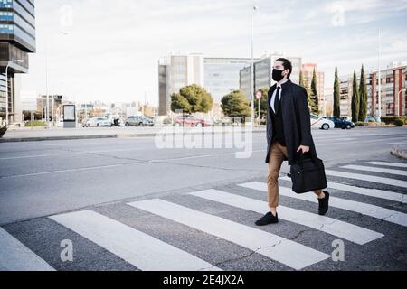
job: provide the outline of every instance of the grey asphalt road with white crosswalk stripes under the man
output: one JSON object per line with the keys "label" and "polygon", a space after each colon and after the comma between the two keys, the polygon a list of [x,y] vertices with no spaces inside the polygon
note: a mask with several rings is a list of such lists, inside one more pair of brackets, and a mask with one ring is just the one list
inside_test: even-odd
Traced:
{"label": "grey asphalt road with white crosswalk stripes under the man", "polygon": [[[236,148],[159,149],[153,137],[0,144],[0,243],[11,238],[34,260],[57,270],[173,269],[175,261],[168,265],[166,260],[156,259],[162,256],[139,255],[139,250],[151,249],[140,244],[157,240],[156,249],[168,247],[166,251],[174,251],[187,269],[407,269],[403,199],[407,167],[390,154],[392,145],[407,143],[407,129],[314,130],[313,135],[317,153],[331,172],[329,181],[351,186],[347,191],[329,189],[339,200],[334,200],[335,208],[327,215],[331,219],[317,219],[327,222],[326,228],[310,228],[312,222],[298,224],[301,220],[295,218],[301,214],[292,211],[285,219],[281,216],[278,226],[255,228],[253,222],[262,214],[245,207],[251,201],[236,198],[241,203],[233,205],[190,194],[215,189],[221,191],[216,196],[229,193],[225,200],[240,196],[264,205],[266,144],[260,133],[253,134],[251,157],[243,159],[236,158],[235,153],[242,151]],[[354,167],[344,168],[346,165]],[[286,163],[282,172],[289,172]],[[348,174],[338,176],[337,172]],[[282,180],[280,185],[289,188],[290,183]],[[374,195],[369,195],[372,191]],[[294,192],[280,199],[285,208],[315,217],[316,203],[299,200]],[[70,214],[72,211],[75,213]],[[87,221],[79,221],[81,225],[75,227],[75,220],[81,219]],[[340,228],[329,227],[338,220]],[[234,235],[236,230],[247,230],[247,234]],[[143,232],[143,239],[135,232]],[[258,238],[251,237],[257,234]],[[276,244],[261,243],[262,238],[271,237],[278,237]],[[72,241],[72,262],[61,260],[63,239]],[[345,242],[343,262],[330,258],[336,239]],[[139,243],[123,250],[120,240]],[[279,256],[270,249],[281,244],[289,245],[279,252],[299,250],[298,259],[293,253]],[[12,251],[13,247],[0,249],[0,254],[16,258]],[[301,259],[301,254],[307,257]],[[143,263],[143,257],[151,261]],[[15,264],[19,261],[14,260]],[[2,265],[0,260],[0,269]]]}

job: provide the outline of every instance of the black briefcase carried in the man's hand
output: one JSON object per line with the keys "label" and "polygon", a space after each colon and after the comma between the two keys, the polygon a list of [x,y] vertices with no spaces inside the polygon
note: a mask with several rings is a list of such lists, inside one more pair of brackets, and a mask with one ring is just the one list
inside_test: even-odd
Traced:
{"label": "black briefcase carried in the man's hand", "polygon": [[305,193],[327,188],[324,162],[317,157],[305,158],[304,154],[300,154],[299,161],[291,165],[290,172],[292,191]]}

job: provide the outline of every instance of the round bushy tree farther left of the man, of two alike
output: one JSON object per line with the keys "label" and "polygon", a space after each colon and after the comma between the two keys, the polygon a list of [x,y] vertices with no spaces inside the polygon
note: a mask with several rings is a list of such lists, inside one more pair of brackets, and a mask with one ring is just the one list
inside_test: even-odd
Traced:
{"label": "round bushy tree farther left of the man, of two alike", "polygon": [[193,84],[180,89],[171,97],[171,110],[184,110],[186,114],[208,113],[213,107],[212,96],[199,85]]}

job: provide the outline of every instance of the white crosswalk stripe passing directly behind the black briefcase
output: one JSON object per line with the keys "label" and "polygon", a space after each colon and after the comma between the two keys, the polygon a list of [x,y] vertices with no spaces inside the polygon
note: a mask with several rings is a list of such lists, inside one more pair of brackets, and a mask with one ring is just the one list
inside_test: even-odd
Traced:
{"label": "white crosswalk stripe passing directly behind the black briefcase", "polygon": [[[279,178],[279,180],[291,182],[291,179],[289,177]],[[379,199],[384,199],[384,200],[394,200],[394,201],[398,201],[398,202],[402,202],[402,203],[407,203],[407,195],[404,195],[404,194],[398,193],[398,192],[393,192],[393,191],[366,189],[366,188],[360,188],[360,187],[351,186],[351,185],[347,185],[347,184],[343,184],[343,183],[339,183],[339,182],[328,182],[328,188],[340,190],[340,191],[349,191],[349,192],[353,192],[356,194],[361,194],[364,196],[369,196],[369,197],[374,197],[374,198],[379,198]]]}

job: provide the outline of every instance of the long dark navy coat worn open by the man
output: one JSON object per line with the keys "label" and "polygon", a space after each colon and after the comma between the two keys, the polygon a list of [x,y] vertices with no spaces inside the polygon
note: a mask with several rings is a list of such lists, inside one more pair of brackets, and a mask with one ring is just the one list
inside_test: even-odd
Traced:
{"label": "long dark navy coat worn open by the man", "polygon": [[[289,165],[298,161],[297,153],[300,145],[310,147],[309,154],[317,157],[317,150],[311,135],[311,116],[308,107],[307,90],[288,80],[281,86],[281,113],[284,123],[284,134],[289,158]],[[268,117],[267,117],[267,156],[266,163],[269,163],[271,142],[273,140],[273,123],[271,118],[270,100],[277,84],[272,86],[268,98]]]}

